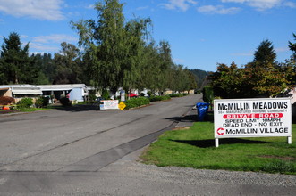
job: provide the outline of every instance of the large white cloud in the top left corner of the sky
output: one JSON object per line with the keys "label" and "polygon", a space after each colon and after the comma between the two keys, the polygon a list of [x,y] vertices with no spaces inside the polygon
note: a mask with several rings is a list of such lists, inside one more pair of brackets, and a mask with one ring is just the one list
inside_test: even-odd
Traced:
{"label": "large white cloud in the top left corner of the sky", "polygon": [[15,17],[63,20],[63,0],[0,0],[0,12]]}

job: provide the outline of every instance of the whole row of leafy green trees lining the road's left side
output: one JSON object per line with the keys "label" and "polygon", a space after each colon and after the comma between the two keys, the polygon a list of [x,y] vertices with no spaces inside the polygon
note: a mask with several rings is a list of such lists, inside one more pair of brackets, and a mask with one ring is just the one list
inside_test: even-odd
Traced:
{"label": "whole row of leafy green trees lining the road's left side", "polygon": [[164,92],[196,88],[194,76],[182,65],[174,65],[167,41],[156,45],[149,38],[151,20],[124,20],[123,4],[104,0],[96,5],[97,20],[72,22],[78,31],[79,44],[85,48],[83,61],[92,86],[118,87]]}

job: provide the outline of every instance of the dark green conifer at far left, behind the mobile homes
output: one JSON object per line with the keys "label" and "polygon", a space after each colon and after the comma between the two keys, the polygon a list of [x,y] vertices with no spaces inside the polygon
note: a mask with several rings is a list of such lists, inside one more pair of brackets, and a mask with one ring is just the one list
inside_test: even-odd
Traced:
{"label": "dark green conifer at far left, behind the mobile homes", "polygon": [[31,83],[38,76],[38,69],[32,67],[29,57],[29,43],[21,47],[20,36],[13,32],[4,44],[0,53],[0,82],[2,84]]}

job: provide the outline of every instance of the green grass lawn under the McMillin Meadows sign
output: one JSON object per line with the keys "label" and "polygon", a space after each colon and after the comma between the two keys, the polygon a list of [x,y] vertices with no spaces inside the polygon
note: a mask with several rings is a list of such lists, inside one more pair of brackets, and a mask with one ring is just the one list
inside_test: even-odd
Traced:
{"label": "green grass lawn under the McMillin Meadows sign", "polygon": [[296,124],[292,144],[286,137],[219,139],[215,147],[214,124],[197,122],[190,129],[161,135],[142,154],[147,164],[235,171],[263,171],[296,175]]}

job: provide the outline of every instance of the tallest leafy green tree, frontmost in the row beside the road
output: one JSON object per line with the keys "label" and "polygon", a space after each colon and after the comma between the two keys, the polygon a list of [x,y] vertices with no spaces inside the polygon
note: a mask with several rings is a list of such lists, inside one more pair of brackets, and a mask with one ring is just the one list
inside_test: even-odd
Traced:
{"label": "tallest leafy green tree, frontmost in the row beside the road", "polygon": [[93,85],[104,89],[109,87],[115,92],[123,85],[120,74],[126,56],[123,4],[118,0],[104,0],[96,4],[96,10],[97,22],[80,20],[72,25],[79,32],[79,44],[89,55]]}

